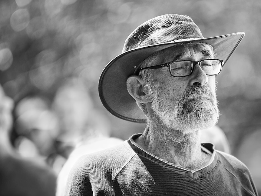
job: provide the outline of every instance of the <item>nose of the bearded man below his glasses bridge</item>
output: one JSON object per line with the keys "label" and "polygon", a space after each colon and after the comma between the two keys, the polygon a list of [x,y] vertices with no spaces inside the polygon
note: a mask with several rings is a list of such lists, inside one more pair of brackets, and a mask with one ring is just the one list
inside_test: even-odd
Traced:
{"label": "nose of the bearded man below his glasses bridge", "polygon": [[195,65],[190,78],[190,86],[203,86],[208,83],[208,77],[200,65]]}

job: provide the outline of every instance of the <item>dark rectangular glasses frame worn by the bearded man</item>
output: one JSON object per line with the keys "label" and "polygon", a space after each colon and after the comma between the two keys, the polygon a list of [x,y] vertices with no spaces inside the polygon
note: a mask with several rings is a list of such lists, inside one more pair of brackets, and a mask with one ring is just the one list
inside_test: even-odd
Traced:
{"label": "dark rectangular glasses frame worn by the bearded man", "polygon": [[218,75],[218,74],[220,74],[221,69],[222,69],[222,67],[223,67],[223,62],[224,62],[224,61],[223,61],[223,60],[220,60],[220,59],[214,59],[214,58],[211,58],[211,59],[203,59],[203,60],[200,60],[200,61],[182,60],[182,61],[190,61],[190,62],[192,62],[191,72],[190,72],[188,75],[184,75],[184,76],[174,76],[174,75],[171,74],[171,71],[170,71],[170,64],[171,64],[171,63],[173,63],[173,62],[182,62],[182,61],[171,61],[171,62],[164,63],[164,64],[160,64],[160,65],[154,65],[154,66],[150,66],[150,67],[139,68],[139,69],[137,70],[137,73],[139,73],[140,70],[144,70],[144,69],[159,69],[159,68],[162,68],[162,67],[168,67],[171,76],[177,77],[177,78],[181,78],[181,77],[186,77],[186,76],[191,75],[191,74],[193,73],[193,70],[194,70],[195,65],[199,65],[199,66],[201,67],[200,63],[201,63],[202,61],[208,61],[208,60],[217,60],[217,61],[220,61],[221,67],[220,67],[219,73],[217,73],[217,74],[206,74],[206,75]]}

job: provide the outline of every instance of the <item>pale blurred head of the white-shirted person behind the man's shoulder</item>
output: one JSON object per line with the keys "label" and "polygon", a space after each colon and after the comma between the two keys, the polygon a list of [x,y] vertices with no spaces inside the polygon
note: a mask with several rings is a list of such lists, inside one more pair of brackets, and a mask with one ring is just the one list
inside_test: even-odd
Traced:
{"label": "pale blurred head of the white-shirted person behind the man's shoulder", "polygon": [[55,94],[52,107],[58,115],[60,133],[57,140],[75,146],[110,135],[110,125],[96,108],[84,82],[69,78]]}

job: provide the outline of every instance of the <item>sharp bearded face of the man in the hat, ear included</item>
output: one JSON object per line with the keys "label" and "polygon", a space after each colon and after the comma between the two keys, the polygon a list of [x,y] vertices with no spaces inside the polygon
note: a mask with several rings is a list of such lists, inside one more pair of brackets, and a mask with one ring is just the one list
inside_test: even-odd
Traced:
{"label": "sharp bearded face of the man in the hat, ear included", "polygon": [[[140,67],[172,61],[179,63],[175,67],[145,69],[139,76],[128,78],[128,91],[144,111],[147,122],[160,123],[184,133],[213,126],[219,115],[215,75],[210,75],[208,70],[212,65],[199,65],[198,62],[213,58],[213,48],[210,45],[188,43],[164,49],[143,61]],[[197,63],[191,64],[192,67],[189,68],[190,65],[185,61]],[[192,72],[184,77],[172,76],[182,75],[182,72],[186,72],[183,69],[191,69]]]}

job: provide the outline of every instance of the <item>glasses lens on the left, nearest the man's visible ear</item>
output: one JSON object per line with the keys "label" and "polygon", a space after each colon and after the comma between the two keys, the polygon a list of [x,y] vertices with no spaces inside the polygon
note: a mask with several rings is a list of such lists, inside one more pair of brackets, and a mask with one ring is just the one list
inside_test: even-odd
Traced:
{"label": "glasses lens on the left, nearest the man's visible ear", "polygon": [[170,64],[170,72],[173,76],[189,75],[192,71],[191,61],[176,61]]}

